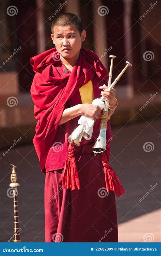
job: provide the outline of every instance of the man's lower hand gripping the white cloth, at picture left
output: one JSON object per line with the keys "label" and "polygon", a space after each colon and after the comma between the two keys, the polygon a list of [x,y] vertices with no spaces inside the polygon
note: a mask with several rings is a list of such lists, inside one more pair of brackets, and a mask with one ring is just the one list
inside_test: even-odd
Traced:
{"label": "man's lower hand gripping the white cloth, at picture left", "polygon": [[93,104],[81,104],[82,115],[92,118],[94,121],[99,119],[101,108]]}

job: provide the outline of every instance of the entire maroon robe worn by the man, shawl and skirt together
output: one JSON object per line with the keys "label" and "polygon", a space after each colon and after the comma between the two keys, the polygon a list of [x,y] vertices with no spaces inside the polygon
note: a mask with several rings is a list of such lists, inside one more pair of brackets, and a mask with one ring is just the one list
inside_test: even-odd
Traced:
{"label": "entire maroon robe worn by the man, shawl and skirt together", "polygon": [[[107,81],[107,70],[92,51],[81,48],[72,72],[68,70],[65,75],[63,69],[66,67],[53,59],[53,51],[55,48],[31,59],[36,72],[31,93],[35,103],[34,116],[38,120],[33,142],[41,171],[46,173],[46,242],[118,242],[115,189],[112,183],[116,183],[115,192],[118,196],[124,190],[118,190],[117,187],[121,186],[117,186],[119,183],[114,176],[111,177],[109,168],[105,178],[104,169],[109,166],[110,160],[110,144],[107,143],[106,148],[107,163],[102,161],[101,154],[93,154],[92,146],[99,135],[100,120],[96,120],[91,140],[83,138],[74,154],[80,190],[62,187],[62,171],[68,156],[67,138],[77,127],[79,117],[58,125],[64,108],[81,103],[78,89],[90,79],[94,98],[100,97],[98,87]],[[66,92],[66,97],[59,101],[59,97]],[[108,121],[107,141],[111,141],[112,137]],[[109,190],[107,180],[113,180]]]}

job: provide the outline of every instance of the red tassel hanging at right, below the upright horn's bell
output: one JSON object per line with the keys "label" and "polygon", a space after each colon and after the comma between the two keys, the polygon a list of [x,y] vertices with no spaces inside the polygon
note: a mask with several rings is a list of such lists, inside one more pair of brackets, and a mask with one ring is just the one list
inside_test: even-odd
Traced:
{"label": "red tassel hanging at right, below the upright horn's bell", "polygon": [[101,160],[103,164],[103,170],[105,173],[105,182],[107,191],[115,191],[117,197],[125,193],[124,188],[119,181],[118,175],[113,171],[113,169],[108,165],[108,160],[106,154],[101,153]]}

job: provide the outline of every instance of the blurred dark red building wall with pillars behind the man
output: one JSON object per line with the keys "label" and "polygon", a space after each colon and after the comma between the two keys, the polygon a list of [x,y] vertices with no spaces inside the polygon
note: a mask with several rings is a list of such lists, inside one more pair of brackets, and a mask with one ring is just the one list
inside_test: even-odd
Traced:
{"label": "blurred dark red building wall with pillars behind the man", "polygon": [[[9,13],[8,8],[12,5],[15,6],[15,15]],[[119,106],[111,124],[122,125],[158,115],[160,3],[151,3],[150,0],[72,0],[67,3],[33,0],[15,3],[8,0],[1,2],[0,7],[1,147],[7,147],[19,137],[23,138],[22,143],[32,141],[36,120],[30,95],[34,76],[30,57],[54,47],[50,34],[56,12],[72,12],[81,17],[87,32],[83,46],[93,50],[107,69],[109,55],[117,55],[113,79],[124,68],[125,61],[133,64],[115,86]],[[146,56],[146,52],[149,55]],[[139,110],[150,97],[153,101]]]}

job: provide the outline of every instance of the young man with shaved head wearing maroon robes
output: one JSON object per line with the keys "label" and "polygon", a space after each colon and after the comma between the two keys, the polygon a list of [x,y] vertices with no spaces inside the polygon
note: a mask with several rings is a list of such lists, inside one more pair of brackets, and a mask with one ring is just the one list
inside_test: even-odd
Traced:
{"label": "young man with shaved head wearing maroon robes", "polygon": [[[109,143],[104,154],[93,154],[101,109],[91,104],[103,95],[114,111],[115,90],[103,88],[108,83],[106,68],[93,51],[82,47],[86,31],[79,17],[72,13],[57,15],[51,38],[56,48],[31,58],[36,73],[31,94],[38,120],[33,142],[41,171],[46,173],[45,239],[118,242],[114,191],[118,197],[125,191],[109,167]],[[95,124],[92,138],[82,138],[74,149],[68,136],[81,115],[92,118]],[[106,136],[111,141],[109,121]]]}

